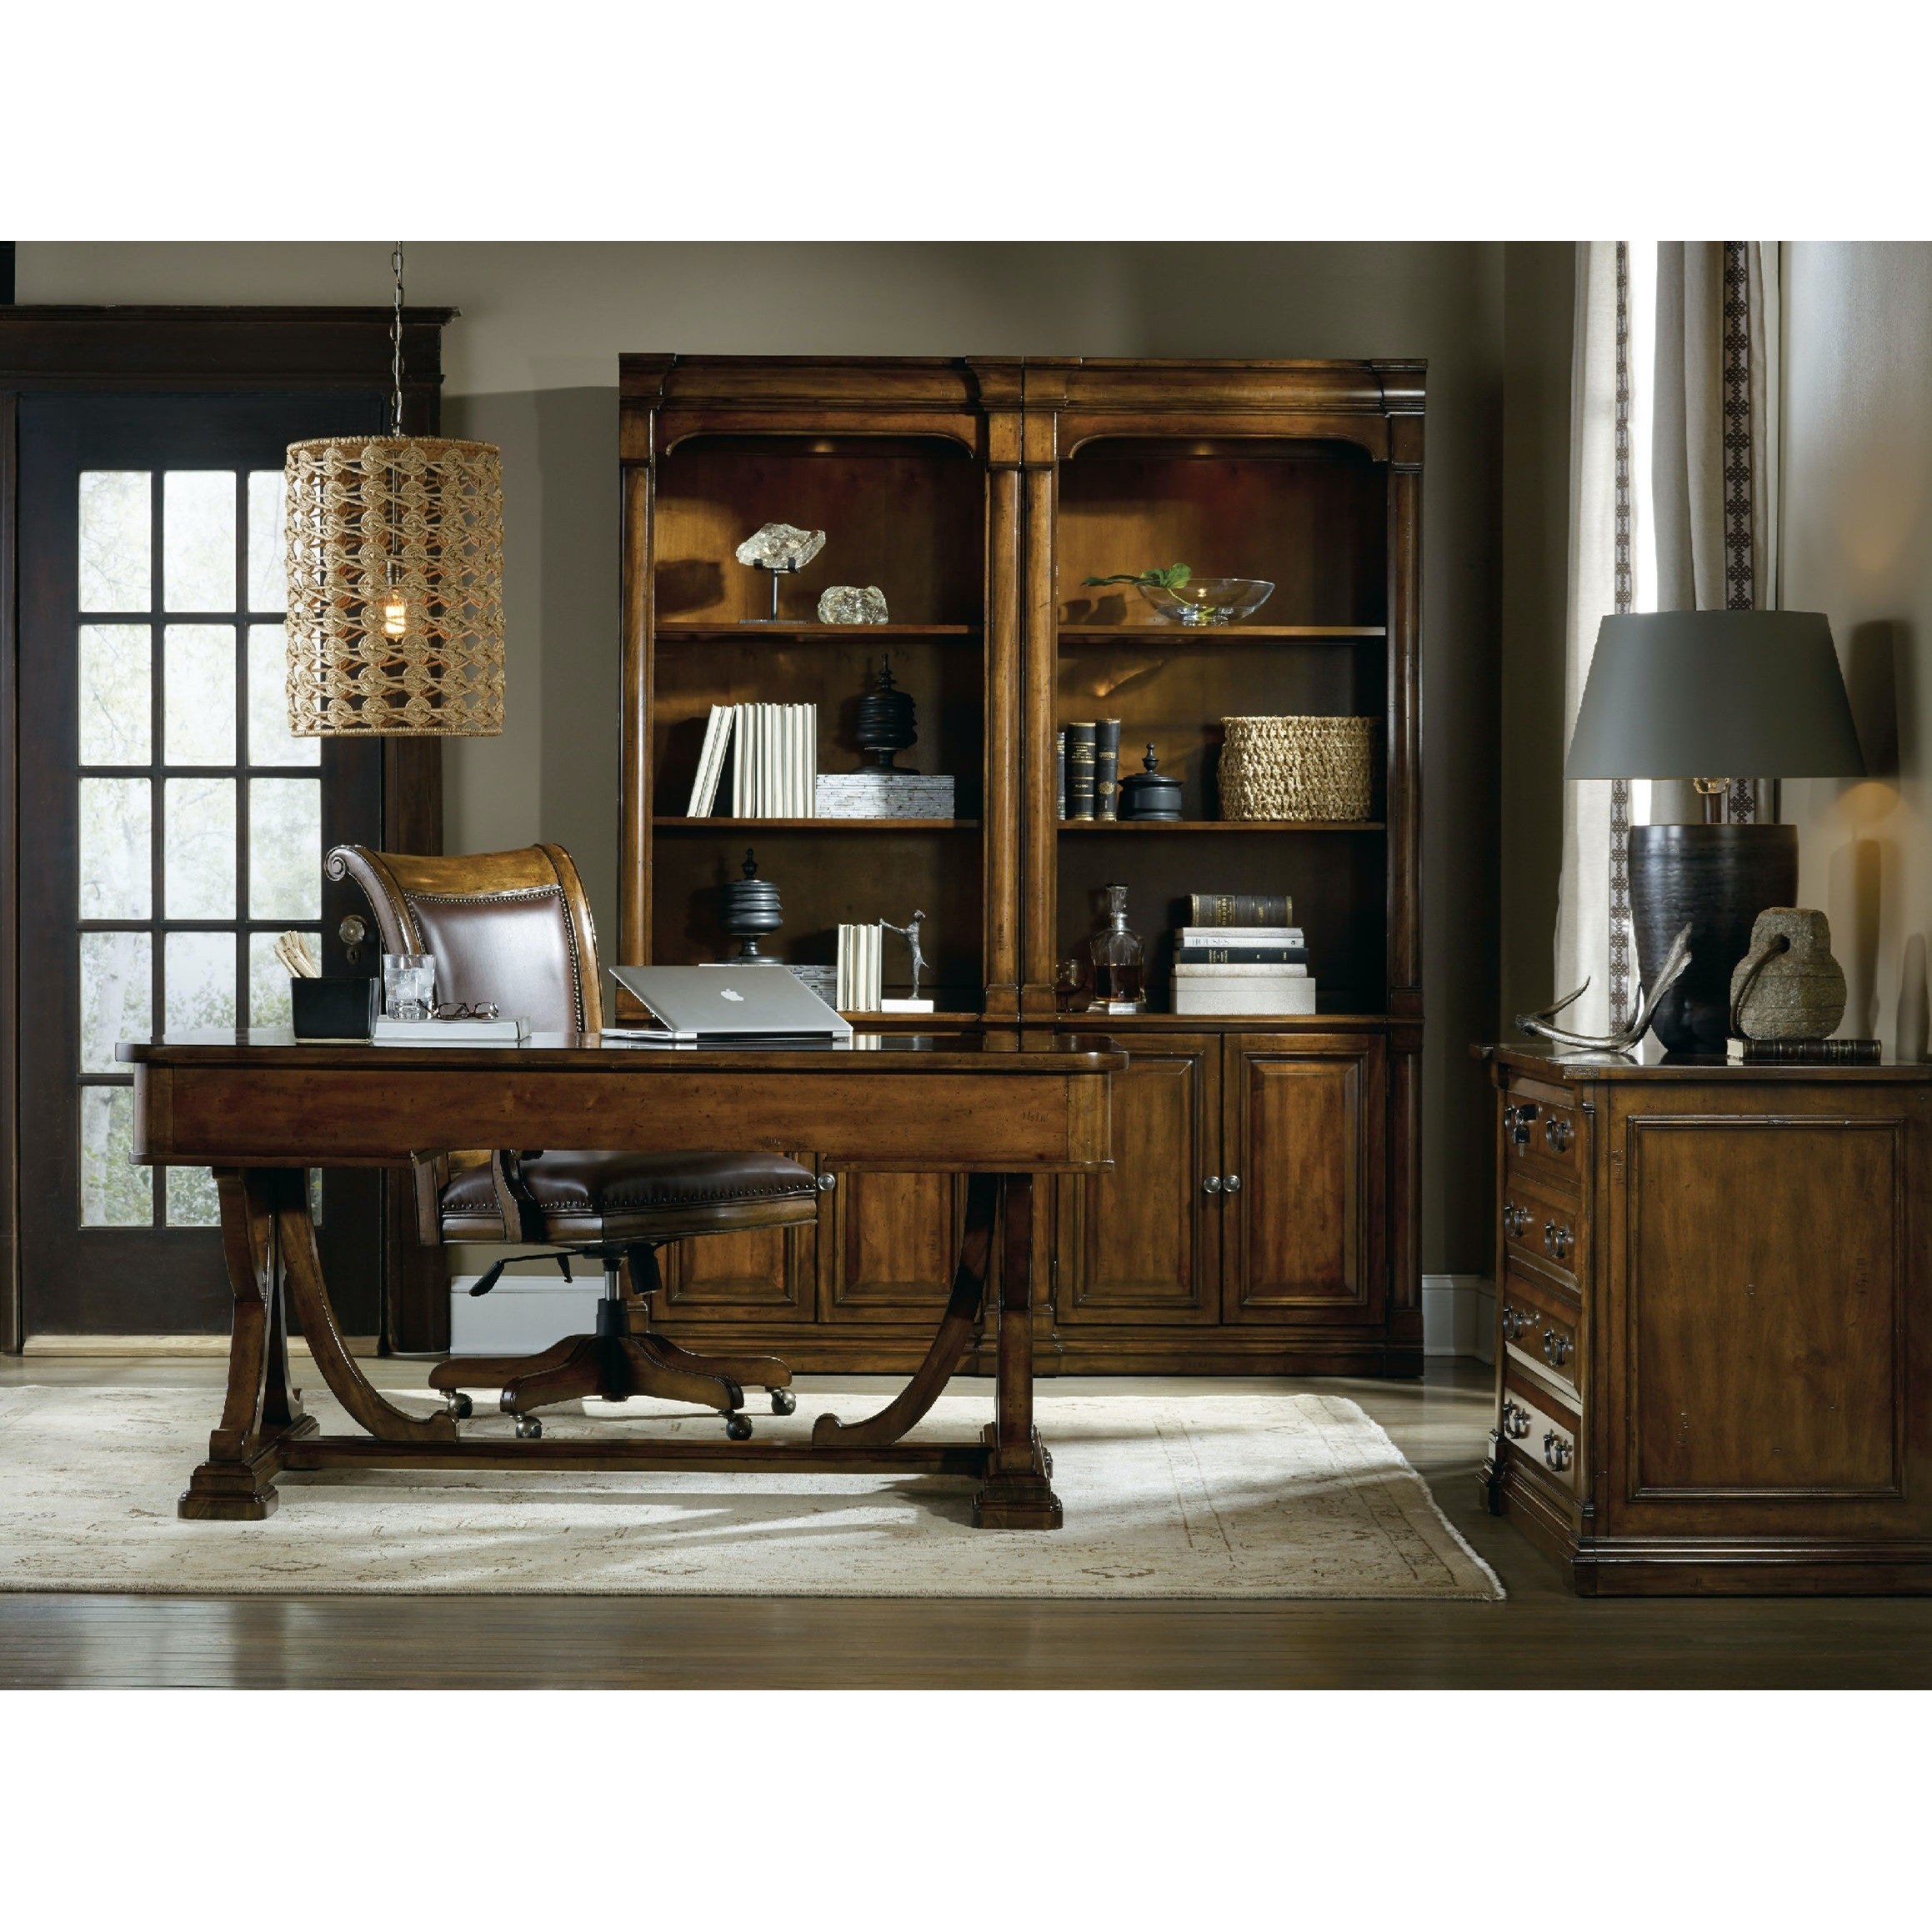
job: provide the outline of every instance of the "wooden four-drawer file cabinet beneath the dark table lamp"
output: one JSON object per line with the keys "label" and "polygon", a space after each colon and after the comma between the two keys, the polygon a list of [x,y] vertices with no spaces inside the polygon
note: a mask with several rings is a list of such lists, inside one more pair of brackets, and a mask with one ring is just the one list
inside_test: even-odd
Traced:
{"label": "wooden four-drawer file cabinet beneath the dark table lamp", "polygon": [[1932,1590],[1932,1066],[1488,1051],[1490,1507],[1580,1594]]}

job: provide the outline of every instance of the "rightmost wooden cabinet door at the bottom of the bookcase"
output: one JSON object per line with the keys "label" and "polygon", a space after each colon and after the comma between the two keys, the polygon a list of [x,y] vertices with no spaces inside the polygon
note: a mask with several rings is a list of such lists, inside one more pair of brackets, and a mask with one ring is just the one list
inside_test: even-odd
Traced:
{"label": "rightmost wooden cabinet door at the bottom of the bookcase", "polygon": [[1225,1320],[1379,1320],[1381,1037],[1231,1034],[1225,1094]]}

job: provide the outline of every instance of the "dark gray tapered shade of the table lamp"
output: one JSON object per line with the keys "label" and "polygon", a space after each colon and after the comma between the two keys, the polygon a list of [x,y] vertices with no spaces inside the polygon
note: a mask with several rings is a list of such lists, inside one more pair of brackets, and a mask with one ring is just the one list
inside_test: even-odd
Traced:
{"label": "dark gray tapered shade of the table lamp", "polygon": [[1824,612],[1604,618],[1563,777],[1864,777]]}

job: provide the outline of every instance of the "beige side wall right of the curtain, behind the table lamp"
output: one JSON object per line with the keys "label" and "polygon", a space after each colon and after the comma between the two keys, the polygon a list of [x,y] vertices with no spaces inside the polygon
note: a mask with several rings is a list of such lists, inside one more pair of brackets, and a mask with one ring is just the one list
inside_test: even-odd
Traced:
{"label": "beige side wall right of the curtain, behind the table lamp", "polygon": [[1932,247],[1785,245],[1783,605],[1832,620],[1870,777],[1787,782],[1847,1034],[1926,1055]]}

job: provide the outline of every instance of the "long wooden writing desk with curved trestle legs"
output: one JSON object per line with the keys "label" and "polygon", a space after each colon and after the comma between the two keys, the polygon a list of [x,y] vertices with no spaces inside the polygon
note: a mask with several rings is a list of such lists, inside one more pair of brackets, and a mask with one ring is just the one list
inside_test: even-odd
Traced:
{"label": "long wooden writing desk with curved trestle legs", "polygon": [[[1061,1522],[1034,1430],[1034,1175],[1111,1167],[1107,1039],[1007,1049],[860,1036],[850,1051],[690,1051],[535,1036],[516,1049],[317,1047],[286,1032],[122,1043],[133,1063],[135,1159],[213,1167],[234,1289],[228,1397],[184,1517],[261,1520],[284,1468],[925,1470],[981,1482],[974,1522]],[[810,1148],[842,1169],[966,1173],[966,1227],[933,1345],[862,1422],[819,1416],[808,1443],[504,1441],[384,1401],[342,1343],[309,1221],[309,1167],[398,1167],[454,1148]],[[980,1314],[999,1242],[995,1422],[974,1443],[908,1443]],[[321,1435],[288,1385],[288,1314],[367,1435]]]}

